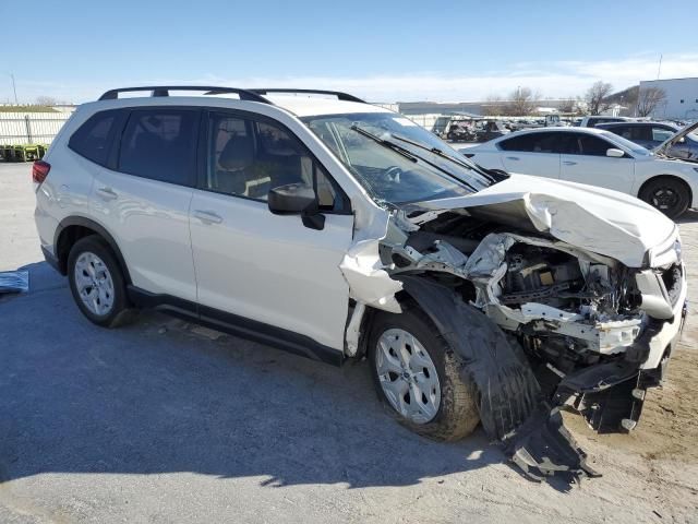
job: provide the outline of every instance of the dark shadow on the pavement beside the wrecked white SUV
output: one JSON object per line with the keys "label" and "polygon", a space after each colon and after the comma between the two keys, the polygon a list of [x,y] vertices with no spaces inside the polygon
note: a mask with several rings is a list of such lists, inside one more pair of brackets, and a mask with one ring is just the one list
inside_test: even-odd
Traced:
{"label": "dark shadow on the pavement beside the wrecked white SUV", "polygon": [[0,300],[0,481],[195,472],[356,488],[504,462],[481,430],[438,443],[399,426],[365,362],[337,369],[157,312],[99,329],[46,263],[24,269],[29,293]]}

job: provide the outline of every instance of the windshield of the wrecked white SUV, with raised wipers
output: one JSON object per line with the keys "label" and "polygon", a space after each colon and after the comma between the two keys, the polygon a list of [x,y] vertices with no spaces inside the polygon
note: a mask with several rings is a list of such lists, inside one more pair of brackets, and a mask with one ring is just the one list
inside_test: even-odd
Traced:
{"label": "windshield of the wrecked white SUV, with raised wipers", "polygon": [[302,120],[378,202],[406,204],[461,196],[493,183],[464,155],[395,112]]}

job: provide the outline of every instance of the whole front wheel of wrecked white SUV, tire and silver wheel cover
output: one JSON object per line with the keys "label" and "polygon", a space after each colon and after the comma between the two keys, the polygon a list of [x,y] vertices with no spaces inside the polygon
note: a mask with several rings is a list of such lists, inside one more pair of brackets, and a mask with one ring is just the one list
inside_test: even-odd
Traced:
{"label": "whole front wheel of wrecked white SUV, tire and silver wheel cover", "polygon": [[414,432],[457,440],[480,421],[473,385],[464,380],[458,357],[420,309],[376,313],[369,360],[378,395]]}

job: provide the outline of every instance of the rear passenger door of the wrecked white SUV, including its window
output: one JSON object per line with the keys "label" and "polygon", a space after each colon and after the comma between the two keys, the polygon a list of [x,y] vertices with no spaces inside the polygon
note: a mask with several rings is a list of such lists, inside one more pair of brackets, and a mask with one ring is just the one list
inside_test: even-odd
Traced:
{"label": "rear passenger door of the wrecked white SUV, including its window", "polygon": [[196,109],[171,106],[124,110],[91,198],[93,215],[115,237],[133,285],[191,301],[196,281],[189,206],[200,119]]}

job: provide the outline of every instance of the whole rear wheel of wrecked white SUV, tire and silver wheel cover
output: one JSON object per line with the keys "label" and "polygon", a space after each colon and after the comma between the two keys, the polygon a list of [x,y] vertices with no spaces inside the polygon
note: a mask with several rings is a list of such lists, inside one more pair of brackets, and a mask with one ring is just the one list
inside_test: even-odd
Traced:
{"label": "whole rear wheel of wrecked white SUV, tire and silver wheel cover", "polygon": [[133,317],[121,267],[100,237],[81,238],[71,248],[68,278],[75,303],[95,324],[115,327]]}

